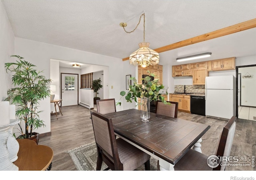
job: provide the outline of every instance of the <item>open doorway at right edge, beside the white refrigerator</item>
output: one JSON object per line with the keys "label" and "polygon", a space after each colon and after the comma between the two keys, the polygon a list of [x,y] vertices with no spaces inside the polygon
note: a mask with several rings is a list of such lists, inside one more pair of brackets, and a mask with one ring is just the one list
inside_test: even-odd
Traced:
{"label": "open doorway at right edge, beside the white refrigerator", "polygon": [[256,64],[236,67],[236,117],[256,121]]}

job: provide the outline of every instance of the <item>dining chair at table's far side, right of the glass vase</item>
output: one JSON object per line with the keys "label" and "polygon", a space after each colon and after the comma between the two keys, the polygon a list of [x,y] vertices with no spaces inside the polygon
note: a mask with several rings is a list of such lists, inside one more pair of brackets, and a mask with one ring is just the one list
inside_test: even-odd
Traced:
{"label": "dining chair at table's far side, right of the glass vase", "polygon": [[172,118],[178,117],[178,102],[167,101],[171,104],[164,104],[162,101],[158,101],[156,104],[156,114],[169,116]]}

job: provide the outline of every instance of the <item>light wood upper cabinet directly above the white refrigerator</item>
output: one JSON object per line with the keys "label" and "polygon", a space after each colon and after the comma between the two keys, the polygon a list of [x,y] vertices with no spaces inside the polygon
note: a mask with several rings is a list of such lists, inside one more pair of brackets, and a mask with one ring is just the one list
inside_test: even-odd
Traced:
{"label": "light wood upper cabinet directly above the white refrigerator", "polygon": [[224,58],[212,60],[212,71],[215,70],[232,70],[235,69],[235,58]]}

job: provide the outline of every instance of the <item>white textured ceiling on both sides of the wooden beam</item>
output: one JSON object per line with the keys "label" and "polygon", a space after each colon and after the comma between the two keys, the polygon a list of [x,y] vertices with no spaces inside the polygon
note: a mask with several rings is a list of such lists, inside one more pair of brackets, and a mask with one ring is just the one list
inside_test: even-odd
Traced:
{"label": "white textured ceiling on both sides of the wooden beam", "polygon": [[[16,37],[116,58],[143,41],[160,48],[256,18],[256,0],[2,0]],[[160,53],[160,64],[212,52],[207,60],[256,55],[256,28]],[[205,60],[205,59],[204,59]],[[82,62],[82,60],[81,60]],[[93,62],[92,62],[93,63]]]}

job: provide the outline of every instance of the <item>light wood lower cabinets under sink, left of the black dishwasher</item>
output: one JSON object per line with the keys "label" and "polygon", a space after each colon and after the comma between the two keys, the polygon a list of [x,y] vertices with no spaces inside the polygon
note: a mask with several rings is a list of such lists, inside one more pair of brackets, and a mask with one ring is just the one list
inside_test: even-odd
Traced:
{"label": "light wood lower cabinets under sink, left of the black dishwasher", "polygon": [[172,94],[172,102],[178,102],[178,110],[190,112],[190,96]]}

